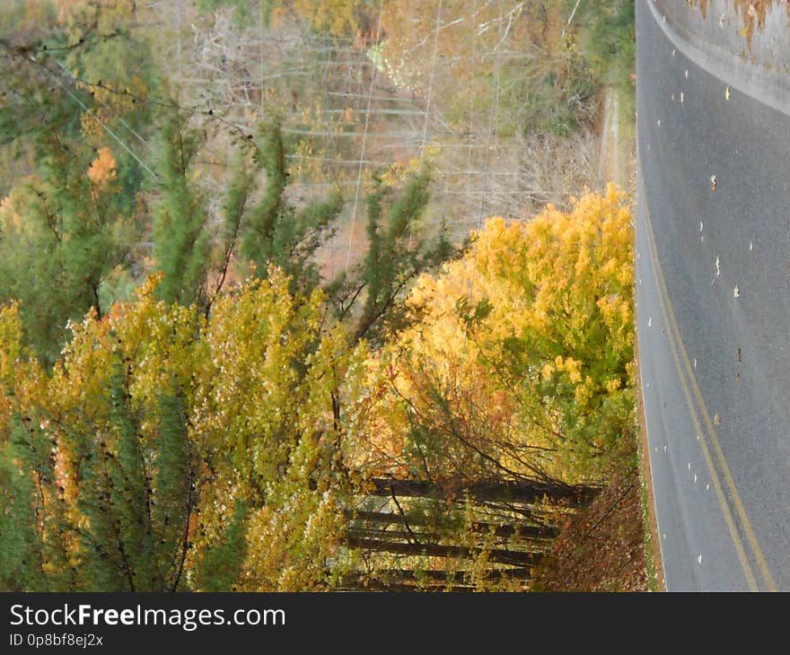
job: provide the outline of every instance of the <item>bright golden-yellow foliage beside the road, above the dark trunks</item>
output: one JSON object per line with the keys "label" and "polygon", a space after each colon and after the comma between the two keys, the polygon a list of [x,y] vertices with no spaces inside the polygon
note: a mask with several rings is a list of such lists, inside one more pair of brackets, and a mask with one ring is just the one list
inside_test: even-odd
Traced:
{"label": "bright golden-yellow foliage beside the road, above the dark trunks", "polygon": [[631,214],[613,185],[572,205],[491,218],[461,259],[419,278],[416,321],[369,362],[371,388],[386,389],[371,460],[415,466],[403,435],[416,425],[432,476],[482,458],[567,479],[616,448],[633,408]]}

